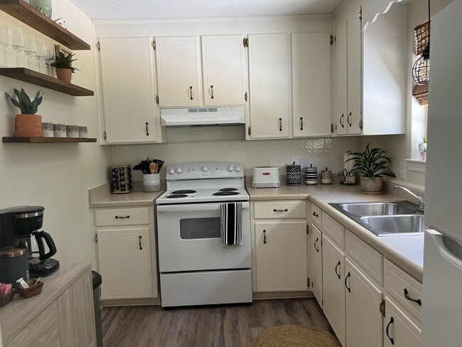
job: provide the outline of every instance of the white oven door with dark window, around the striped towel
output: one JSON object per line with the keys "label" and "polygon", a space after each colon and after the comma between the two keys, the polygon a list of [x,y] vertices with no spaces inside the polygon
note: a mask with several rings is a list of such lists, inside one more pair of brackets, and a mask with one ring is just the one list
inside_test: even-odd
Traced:
{"label": "white oven door with dark window, around the striped towel", "polygon": [[242,203],[242,245],[222,246],[220,203],[157,206],[159,271],[249,268],[249,202]]}

